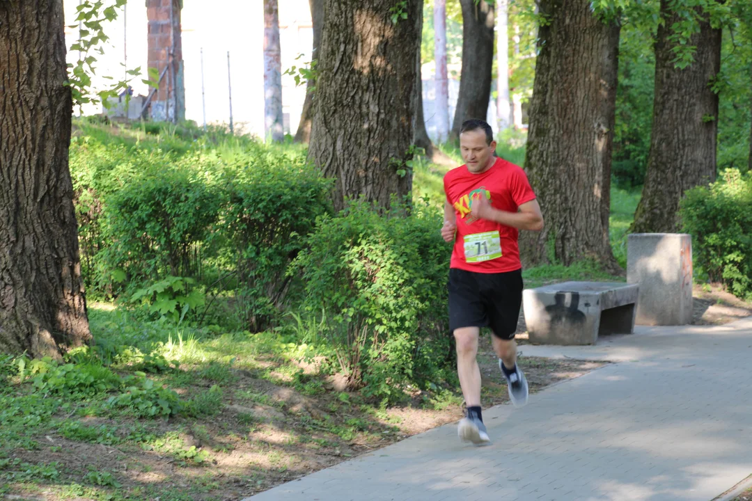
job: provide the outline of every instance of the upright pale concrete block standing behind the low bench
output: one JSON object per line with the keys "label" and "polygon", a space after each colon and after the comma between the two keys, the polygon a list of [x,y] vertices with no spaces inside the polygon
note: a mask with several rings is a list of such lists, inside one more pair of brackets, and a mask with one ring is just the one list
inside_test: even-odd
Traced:
{"label": "upright pale concrete block standing behind the low bench", "polygon": [[692,323],[692,236],[635,233],[627,240],[626,281],[640,285],[638,325]]}

